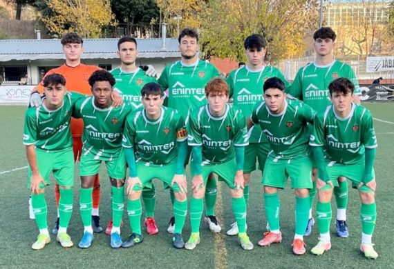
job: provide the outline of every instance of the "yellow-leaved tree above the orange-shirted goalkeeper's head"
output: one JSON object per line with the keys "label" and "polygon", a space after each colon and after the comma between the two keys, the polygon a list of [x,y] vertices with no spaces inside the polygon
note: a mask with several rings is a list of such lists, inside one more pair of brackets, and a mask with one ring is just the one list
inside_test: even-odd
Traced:
{"label": "yellow-leaved tree above the orange-shirted goalkeeper's head", "polygon": [[76,32],[83,38],[101,37],[102,29],[114,23],[109,0],[45,0],[48,9],[41,21],[49,32],[62,36]]}

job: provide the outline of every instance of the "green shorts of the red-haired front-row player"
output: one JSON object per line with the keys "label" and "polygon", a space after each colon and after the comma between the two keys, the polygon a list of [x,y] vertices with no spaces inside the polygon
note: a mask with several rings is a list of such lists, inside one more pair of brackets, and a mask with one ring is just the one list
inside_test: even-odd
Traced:
{"label": "green shorts of the red-haired front-row player", "polygon": [[[191,177],[194,177],[194,168],[190,169]],[[234,177],[236,173],[236,161],[232,159],[225,163],[201,166],[201,176],[204,179],[204,186],[207,185],[208,177],[211,173],[219,176],[220,181],[225,181],[229,188],[235,189]]]}

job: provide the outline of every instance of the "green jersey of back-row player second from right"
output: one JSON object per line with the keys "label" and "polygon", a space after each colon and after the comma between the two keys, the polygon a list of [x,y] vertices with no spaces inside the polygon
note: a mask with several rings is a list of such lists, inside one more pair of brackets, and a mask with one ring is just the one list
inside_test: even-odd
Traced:
{"label": "green jersey of back-row player second from right", "polygon": [[[247,66],[238,68],[229,73],[229,97],[233,98],[234,107],[239,109],[245,117],[250,117],[254,106],[263,101],[263,84],[271,77],[279,77],[288,87],[290,84],[278,68],[265,66],[260,70],[250,70]],[[261,128],[253,128],[249,138],[250,143],[268,143]]]}

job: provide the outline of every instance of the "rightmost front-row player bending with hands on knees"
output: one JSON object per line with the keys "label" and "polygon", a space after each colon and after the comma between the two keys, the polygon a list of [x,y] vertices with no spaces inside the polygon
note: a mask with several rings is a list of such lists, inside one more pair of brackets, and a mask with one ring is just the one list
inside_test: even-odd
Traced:
{"label": "rightmost front-row player bending with hands on knees", "polygon": [[373,118],[366,108],[353,103],[355,86],[350,80],[336,79],[328,88],[332,106],[315,119],[310,137],[310,146],[319,165],[317,223],[320,241],[312,248],[312,253],[322,255],[331,248],[332,188],[338,185],[339,177],[346,177],[358,188],[362,201],[360,249],[365,257],[376,259],[378,255],[371,242],[376,221],[373,163],[377,141]]}

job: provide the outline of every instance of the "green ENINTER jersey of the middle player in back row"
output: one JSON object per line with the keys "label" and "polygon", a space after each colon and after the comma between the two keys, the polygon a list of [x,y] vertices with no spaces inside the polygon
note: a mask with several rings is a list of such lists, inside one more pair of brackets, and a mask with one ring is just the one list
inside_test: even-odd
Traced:
{"label": "green ENINTER jersey of the middle player in back row", "polygon": [[221,74],[211,63],[198,59],[192,66],[182,61],[166,66],[158,83],[168,90],[168,106],[180,112],[187,119],[189,112],[207,103],[205,84]]}

